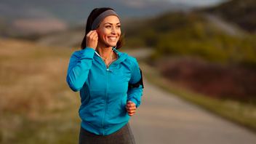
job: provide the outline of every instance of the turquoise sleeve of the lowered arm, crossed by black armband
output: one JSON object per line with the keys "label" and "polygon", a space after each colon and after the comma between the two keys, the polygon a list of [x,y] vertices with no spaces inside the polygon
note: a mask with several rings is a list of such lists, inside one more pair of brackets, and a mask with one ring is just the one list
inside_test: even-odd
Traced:
{"label": "turquoise sleeve of the lowered arm, crossed by black armband", "polygon": [[[129,84],[136,84],[138,81],[140,81],[142,77],[140,74],[140,67],[137,63],[137,60],[134,58],[132,61],[133,61],[132,77],[129,80]],[[142,95],[143,95],[143,86],[140,84],[139,87],[132,87],[128,89],[127,100],[131,100],[133,103],[135,103],[136,107],[139,107]]]}

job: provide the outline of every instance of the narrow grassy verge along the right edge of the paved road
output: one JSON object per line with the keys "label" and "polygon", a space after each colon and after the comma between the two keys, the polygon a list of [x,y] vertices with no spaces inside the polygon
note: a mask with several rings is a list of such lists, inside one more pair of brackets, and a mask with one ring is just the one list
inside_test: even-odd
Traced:
{"label": "narrow grassy verge along the right edge of the paved road", "polygon": [[144,76],[158,87],[171,92],[177,97],[199,105],[218,116],[233,121],[236,124],[247,127],[256,132],[256,105],[241,103],[235,100],[220,100],[206,95],[201,95],[189,89],[177,86],[172,81],[164,79],[156,69],[145,63],[140,63],[144,70]]}

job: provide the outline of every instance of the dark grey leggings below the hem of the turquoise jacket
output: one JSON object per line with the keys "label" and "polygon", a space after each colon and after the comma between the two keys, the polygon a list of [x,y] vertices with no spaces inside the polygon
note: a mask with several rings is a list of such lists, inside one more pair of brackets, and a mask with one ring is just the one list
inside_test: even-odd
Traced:
{"label": "dark grey leggings below the hem of the turquoise jacket", "polygon": [[81,127],[79,144],[135,144],[135,138],[129,124],[111,135],[95,135]]}

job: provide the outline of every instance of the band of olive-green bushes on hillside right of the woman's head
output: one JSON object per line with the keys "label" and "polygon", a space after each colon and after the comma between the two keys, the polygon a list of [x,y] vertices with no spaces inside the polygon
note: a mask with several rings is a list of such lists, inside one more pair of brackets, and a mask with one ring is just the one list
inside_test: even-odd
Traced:
{"label": "band of olive-green bushes on hillside right of the woman's head", "polygon": [[229,36],[199,12],[167,13],[127,28],[127,45],[154,47],[152,58],[193,55],[210,62],[256,65],[256,36]]}

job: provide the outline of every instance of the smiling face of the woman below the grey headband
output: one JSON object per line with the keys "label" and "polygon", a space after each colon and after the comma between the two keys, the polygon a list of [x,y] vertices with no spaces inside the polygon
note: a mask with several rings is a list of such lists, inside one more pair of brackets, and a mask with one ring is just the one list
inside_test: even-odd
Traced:
{"label": "smiling face of the woman below the grey headband", "polygon": [[97,28],[97,34],[99,37],[98,45],[115,47],[121,35],[119,18],[114,15],[105,17]]}

